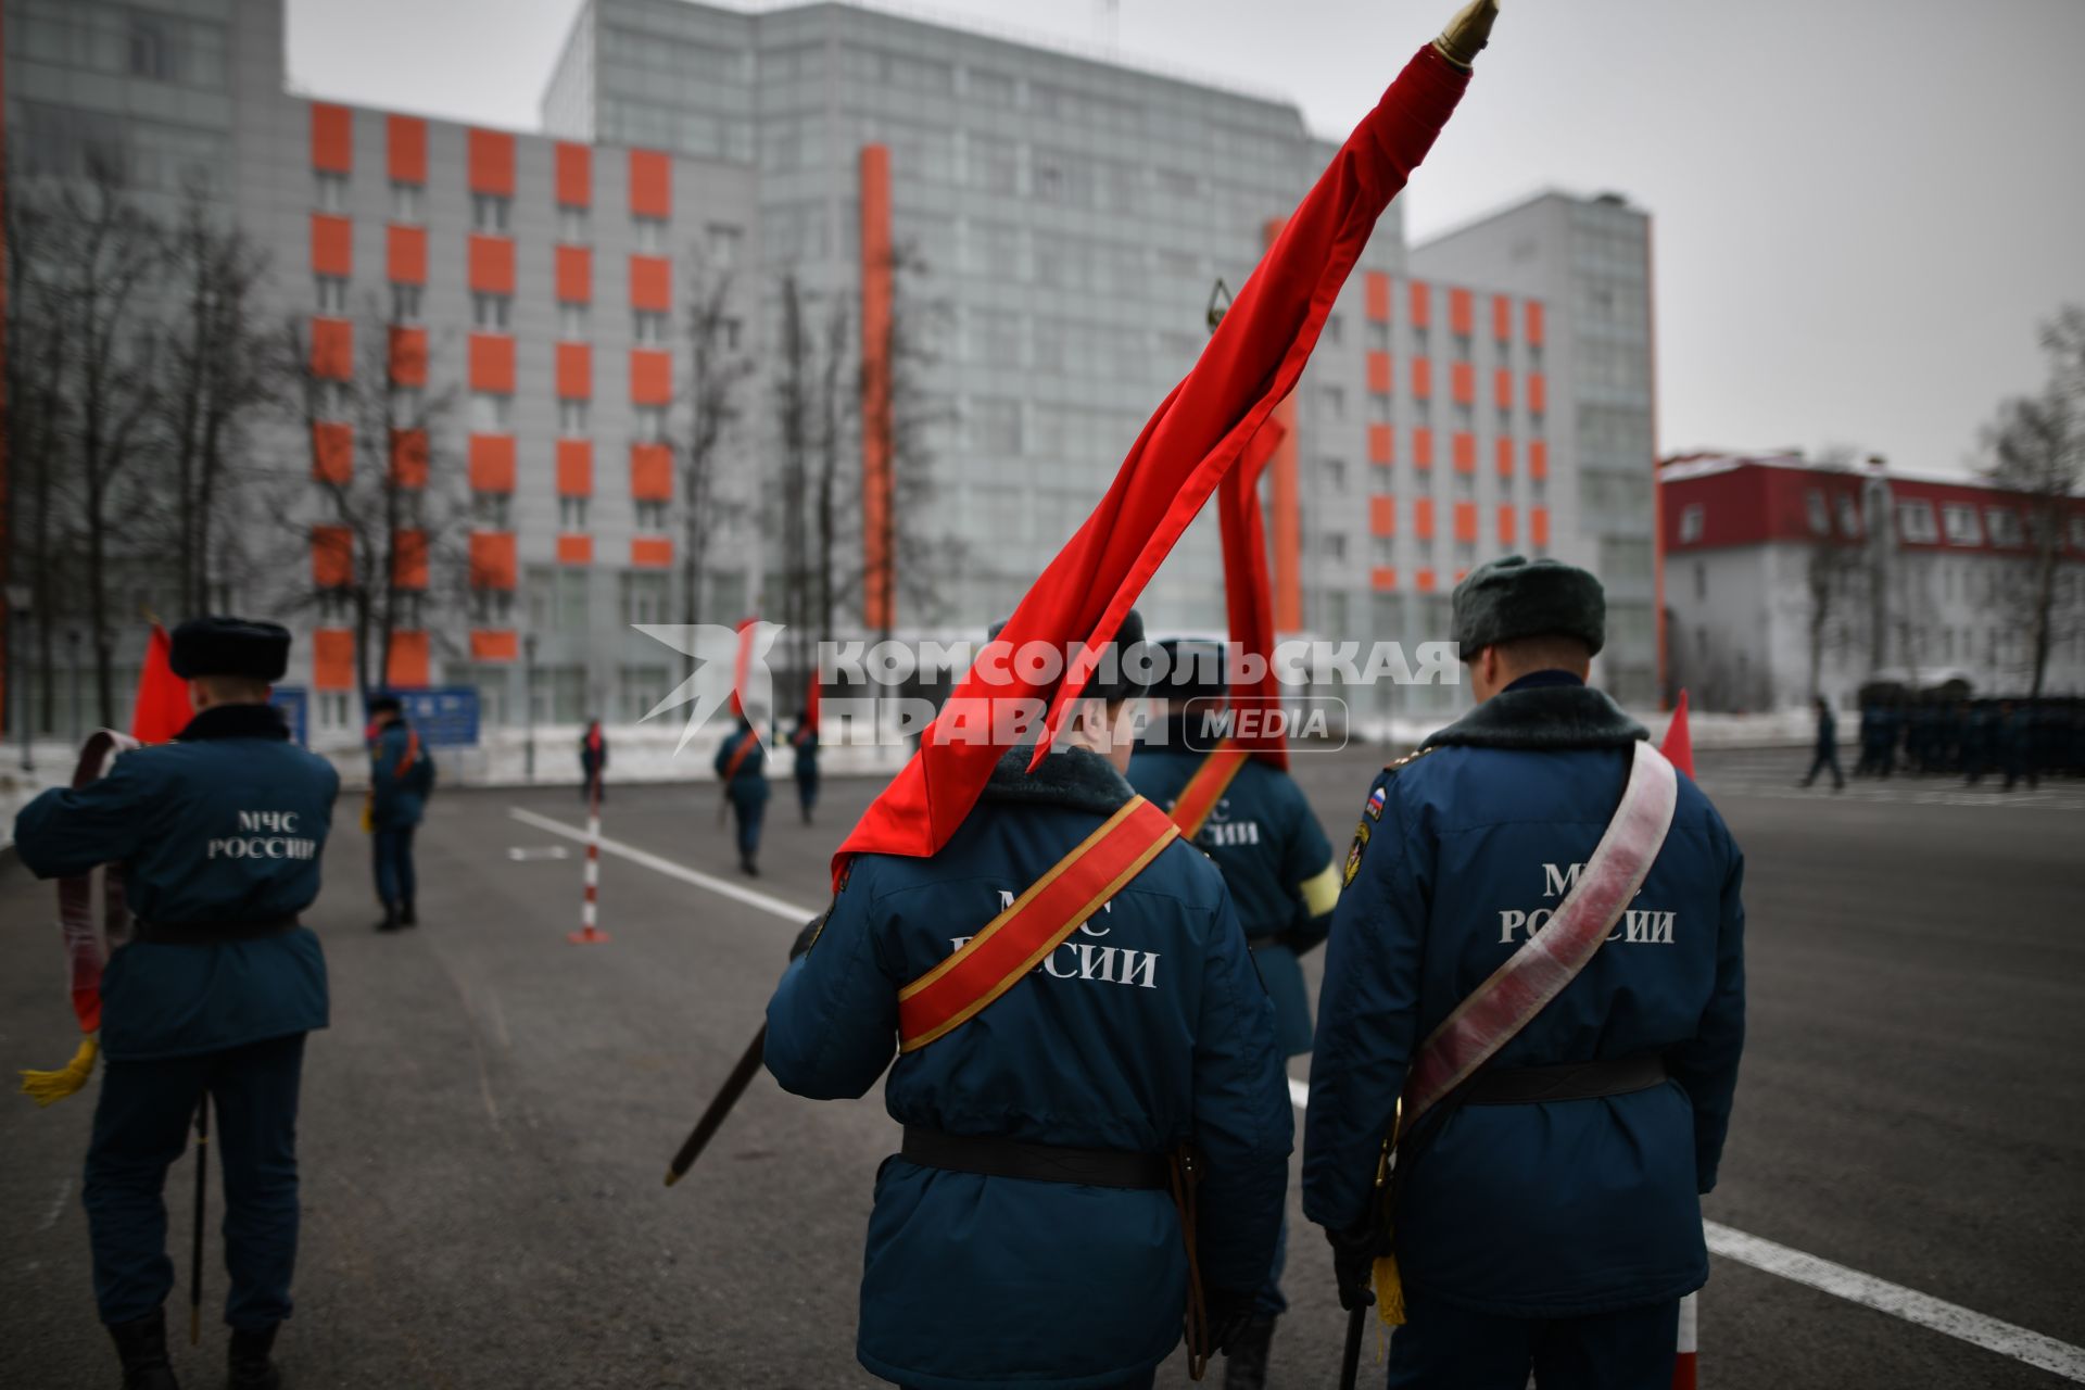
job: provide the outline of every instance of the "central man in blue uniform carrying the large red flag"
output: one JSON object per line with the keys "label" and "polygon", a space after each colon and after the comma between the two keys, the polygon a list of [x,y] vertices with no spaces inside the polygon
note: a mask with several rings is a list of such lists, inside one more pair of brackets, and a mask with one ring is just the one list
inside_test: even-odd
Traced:
{"label": "central man in blue uniform carrying the large red flag", "polygon": [[[1132,613],[1120,640],[1140,636]],[[899,990],[1132,800],[1136,694],[1128,671],[1088,686],[1040,767],[1009,750],[932,859],[853,861],[767,1004],[767,1069],[786,1090],[867,1092],[890,1065]],[[1216,1344],[1268,1277],[1293,1134],[1274,1007],[1193,846],[1168,844],[997,1002],[901,1054],[884,1100],[905,1146],[876,1177],[857,1340],[884,1380],[1149,1386],[1188,1298],[1166,1192],[1182,1144],[1205,1169],[1195,1248]]]}

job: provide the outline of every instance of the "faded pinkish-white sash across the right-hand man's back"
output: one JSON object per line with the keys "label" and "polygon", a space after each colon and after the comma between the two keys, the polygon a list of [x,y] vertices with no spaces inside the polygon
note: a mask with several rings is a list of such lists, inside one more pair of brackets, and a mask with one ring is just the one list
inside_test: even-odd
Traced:
{"label": "faded pinkish-white sash across the right-hand man's back", "polygon": [[1622,804],[1601,831],[1593,857],[1585,861],[1578,882],[1557,904],[1555,917],[1420,1044],[1399,1100],[1401,1132],[1409,1132],[1420,1115],[1470,1079],[1576,979],[1643,888],[1666,831],[1672,829],[1676,802],[1672,763],[1639,740]]}

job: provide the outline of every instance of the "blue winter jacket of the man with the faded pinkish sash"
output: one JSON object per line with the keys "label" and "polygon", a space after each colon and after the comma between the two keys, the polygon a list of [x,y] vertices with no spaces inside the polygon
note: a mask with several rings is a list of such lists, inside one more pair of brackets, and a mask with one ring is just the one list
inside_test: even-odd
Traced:
{"label": "blue winter jacket of the man with the faded pinkish sash", "polygon": [[[1376,779],[1326,948],[1303,1146],[1311,1221],[1351,1230],[1368,1217],[1407,1061],[1557,907],[1639,738],[1608,696],[1543,673]],[[1670,1079],[1447,1111],[1399,1190],[1409,1290],[1476,1313],[1576,1317],[1708,1280],[1697,1194],[1716,1184],[1745,1034],[1741,882],[1722,817],[1681,777],[1672,829],[1618,936],[1493,1061],[1655,1052]]]}

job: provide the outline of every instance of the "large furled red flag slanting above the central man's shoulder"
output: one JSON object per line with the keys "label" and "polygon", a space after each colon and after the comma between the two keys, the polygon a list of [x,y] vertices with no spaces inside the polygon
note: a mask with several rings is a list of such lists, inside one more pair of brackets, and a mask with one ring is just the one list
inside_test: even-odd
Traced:
{"label": "large furled red flag slanting above the central man's shoulder", "polygon": [[[972,667],[919,752],[840,844],[836,879],[851,854],[928,857],[949,842],[1001,754],[992,740],[951,738],[980,704],[1049,698],[1047,727],[1036,740],[1036,761],[1045,756],[1065,702],[1099,661],[1099,646],[1113,638],[1195,513],[1295,390],[1376,219],[1432,148],[1468,85],[1468,71],[1426,46],[1362,119],[1230,304],[1201,361],[1145,425],[1107,496],[1022,598],[999,634],[1005,648],[988,648],[990,659]],[[999,656],[1030,642],[1057,650],[1078,644],[1078,661],[1061,681],[1024,679]]]}

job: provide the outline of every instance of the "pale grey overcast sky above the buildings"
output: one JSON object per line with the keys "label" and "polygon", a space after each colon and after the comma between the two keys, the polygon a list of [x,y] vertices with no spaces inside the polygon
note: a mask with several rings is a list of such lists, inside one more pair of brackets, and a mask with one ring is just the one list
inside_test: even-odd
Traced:
{"label": "pale grey overcast sky above the buildings", "polygon": [[[776,8],[755,4],[746,8]],[[901,6],[924,13],[922,6]],[[1343,135],[1455,0],[940,0]],[[290,0],[296,90],[536,127],[578,0]],[[413,42],[400,44],[400,35]],[[2085,302],[2085,0],[1503,0],[1414,240],[1543,188],[1655,217],[1660,446],[1974,463]]]}

